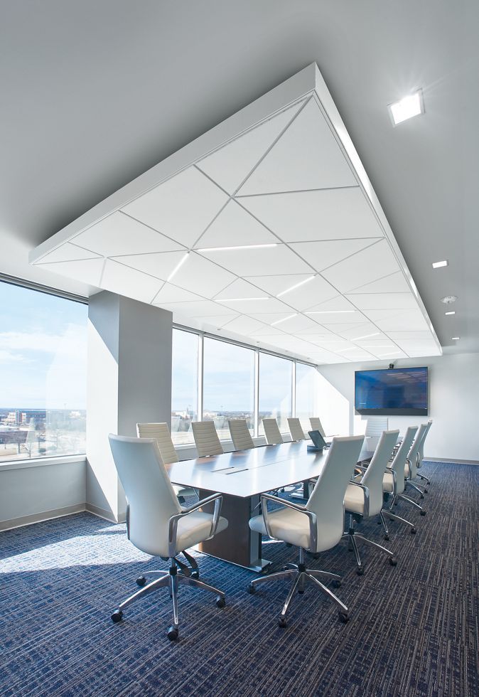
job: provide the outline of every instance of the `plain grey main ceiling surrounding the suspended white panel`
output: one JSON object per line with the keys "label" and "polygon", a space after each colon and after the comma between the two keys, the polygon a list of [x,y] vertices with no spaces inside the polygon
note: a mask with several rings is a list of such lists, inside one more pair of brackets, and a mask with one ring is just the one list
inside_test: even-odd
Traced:
{"label": "plain grey main ceiling surrounding the suspended white panel", "polygon": [[[478,94],[471,88],[478,80],[477,5],[271,0],[181,7],[144,1],[140,7],[46,0],[28,11],[23,3],[2,8],[2,132],[8,139],[0,171],[0,272],[97,292],[91,281],[29,266],[28,251],[316,61],[444,350],[478,351]],[[423,89],[426,113],[394,129],[386,105],[414,87]],[[230,209],[233,203],[240,206],[231,201]],[[272,222],[271,234],[279,235]],[[285,243],[293,244],[301,241]],[[443,258],[449,266],[432,270],[431,262]],[[304,273],[291,275],[300,280]],[[189,302],[167,290],[168,302]],[[264,292],[274,295],[275,288]],[[458,296],[452,318],[440,302],[449,294]],[[230,309],[230,319],[244,316]],[[358,307],[365,316],[366,310],[383,309]],[[246,316],[251,327],[256,318]],[[237,324],[239,335],[246,334],[247,324]],[[273,329],[287,334],[282,324]],[[456,335],[461,341],[454,346]],[[360,334],[345,340],[351,336]]]}

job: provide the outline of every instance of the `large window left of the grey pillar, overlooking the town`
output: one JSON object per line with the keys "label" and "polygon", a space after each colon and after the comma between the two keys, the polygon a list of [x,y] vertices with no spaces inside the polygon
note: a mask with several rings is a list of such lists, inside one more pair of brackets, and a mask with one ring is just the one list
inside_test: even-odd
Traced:
{"label": "large window left of the grey pillar, overlooking the town", "polygon": [[0,462],[85,453],[87,315],[0,282]]}

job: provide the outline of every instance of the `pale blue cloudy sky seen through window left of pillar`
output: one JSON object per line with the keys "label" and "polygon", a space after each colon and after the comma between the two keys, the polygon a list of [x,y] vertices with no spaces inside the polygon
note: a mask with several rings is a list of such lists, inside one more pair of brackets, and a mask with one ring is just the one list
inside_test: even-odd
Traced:
{"label": "pale blue cloudy sky seen through window left of pillar", "polygon": [[86,408],[87,312],[0,282],[0,408]]}

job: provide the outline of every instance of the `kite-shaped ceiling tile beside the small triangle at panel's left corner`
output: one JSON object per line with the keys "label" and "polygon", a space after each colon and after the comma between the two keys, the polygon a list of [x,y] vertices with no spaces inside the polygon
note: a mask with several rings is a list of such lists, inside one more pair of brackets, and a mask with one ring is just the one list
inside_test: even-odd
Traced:
{"label": "kite-shaped ceiling tile beside the small triangle at panel's left corner", "polygon": [[73,243],[105,257],[171,252],[182,245],[117,211],[73,238]]}

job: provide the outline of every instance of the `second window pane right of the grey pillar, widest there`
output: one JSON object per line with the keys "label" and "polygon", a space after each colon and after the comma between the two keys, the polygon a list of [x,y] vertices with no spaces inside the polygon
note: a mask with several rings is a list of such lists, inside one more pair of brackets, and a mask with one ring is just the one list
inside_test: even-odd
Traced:
{"label": "second window pane right of the grey pillar, widest there", "polygon": [[220,440],[230,440],[228,419],[246,419],[253,433],[254,351],[208,338],[203,347],[203,420]]}

